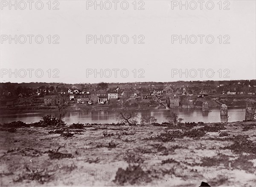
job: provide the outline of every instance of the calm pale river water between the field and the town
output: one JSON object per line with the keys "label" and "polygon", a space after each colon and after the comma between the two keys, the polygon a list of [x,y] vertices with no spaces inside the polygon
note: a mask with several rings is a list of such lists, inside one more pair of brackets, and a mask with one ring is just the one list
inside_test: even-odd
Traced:
{"label": "calm pale river water between the field and the town", "polygon": [[[207,113],[203,113],[201,109],[147,109],[138,110],[138,116],[150,115],[155,116],[158,123],[166,121],[166,116],[173,111],[177,113],[179,118],[183,118],[183,122],[226,122],[227,116],[220,116],[219,108],[209,109]],[[116,123],[115,116],[118,111],[70,111],[67,112],[64,121],[67,124],[72,123]],[[58,116],[56,111],[43,111],[32,113],[9,113],[0,115],[0,123],[9,123],[13,121],[23,121],[26,123],[38,122],[42,116],[52,115]],[[245,117],[245,108],[229,108],[228,122],[243,121]]]}

